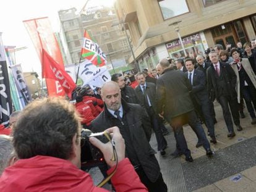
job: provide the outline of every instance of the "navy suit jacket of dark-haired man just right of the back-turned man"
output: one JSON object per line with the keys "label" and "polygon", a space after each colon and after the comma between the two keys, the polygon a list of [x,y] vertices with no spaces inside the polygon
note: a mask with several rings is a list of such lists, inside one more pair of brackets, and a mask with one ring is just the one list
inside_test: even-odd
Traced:
{"label": "navy suit jacket of dark-haired man just right of the back-turned man", "polygon": [[[186,75],[188,77],[188,73]],[[193,80],[192,80],[192,96],[198,102],[202,104],[204,101],[208,101],[208,91],[205,83],[205,73],[202,70],[194,70]]]}

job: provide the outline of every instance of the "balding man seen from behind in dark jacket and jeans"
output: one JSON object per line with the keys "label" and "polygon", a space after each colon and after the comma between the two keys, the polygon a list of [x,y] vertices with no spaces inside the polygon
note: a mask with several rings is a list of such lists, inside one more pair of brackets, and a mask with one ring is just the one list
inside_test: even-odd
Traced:
{"label": "balding man seen from behind in dark jacket and jeans", "polygon": [[162,59],[160,65],[163,67],[163,74],[156,83],[156,112],[163,114],[164,119],[173,127],[177,147],[186,156],[186,161],[193,161],[182,128],[182,125],[186,123],[189,123],[198,139],[202,141],[207,156],[211,156],[213,152],[210,149],[210,143],[202,125],[197,121],[197,115],[190,99],[192,86],[187,75],[169,68],[167,59]]}

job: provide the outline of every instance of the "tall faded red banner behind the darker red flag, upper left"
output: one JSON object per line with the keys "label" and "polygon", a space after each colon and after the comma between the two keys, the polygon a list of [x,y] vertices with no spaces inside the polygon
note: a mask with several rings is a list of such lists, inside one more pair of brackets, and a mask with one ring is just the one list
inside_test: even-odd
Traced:
{"label": "tall faded red banner behind the darker red flag, upper left", "polygon": [[[35,46],[41,64],[43,65],[41,53],[45,49],[53,57],[54,61],[60,65],[59,67],[64,69],[59,44],[54,36],[48,17],[25,20],[23,23]],[[64,96],[65,94],[64,90],[59,89],[58,81],[56,80],[46,78],[46,86],[49,96]]]}

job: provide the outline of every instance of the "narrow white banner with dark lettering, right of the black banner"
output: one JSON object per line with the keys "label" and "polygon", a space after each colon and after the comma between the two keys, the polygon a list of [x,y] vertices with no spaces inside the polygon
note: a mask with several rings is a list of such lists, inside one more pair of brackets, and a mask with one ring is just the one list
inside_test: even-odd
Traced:
{"label": "narrow white banner with dark lettering, right of the black banner", "polygon": [[30,92],[28,91],[28,86],[26,84],[25,78],[23,76],[22,67],[20,64],[11,65],[12,76],[14,77],[16,87],[18,91],[22,94],[22,98],[25,101],[25,104],[32,101]]}

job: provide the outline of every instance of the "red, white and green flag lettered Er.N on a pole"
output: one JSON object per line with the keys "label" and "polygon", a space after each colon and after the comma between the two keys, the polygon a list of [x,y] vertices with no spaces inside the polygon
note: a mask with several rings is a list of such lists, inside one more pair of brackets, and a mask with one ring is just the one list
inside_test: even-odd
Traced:
{"label": "red, white and green flag lettered Er.N on a pole", "polygon": [[106,64],[106,56],[100,46],[92,40],[90,34],[85,30],[81,57],[88,59],[93,65],[102,67]]}

